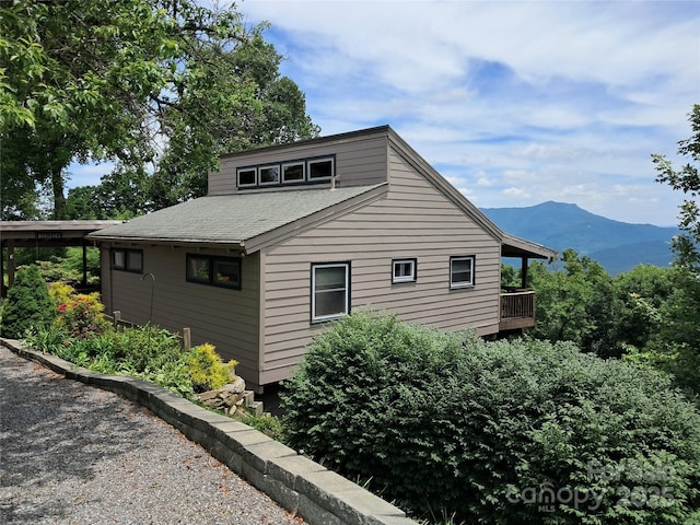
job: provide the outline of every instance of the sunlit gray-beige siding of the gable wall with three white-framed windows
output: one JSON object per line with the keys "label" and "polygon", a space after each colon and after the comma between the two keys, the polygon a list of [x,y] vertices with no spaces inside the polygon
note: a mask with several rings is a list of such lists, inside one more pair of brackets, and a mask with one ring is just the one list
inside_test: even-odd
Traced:
{"label": "sunlit gray-beige siding of the gable wall with three white-framed windows", "polygon": [[[351,262],[352,308],[371,305],[442,329],[498,331],[500,243],[389,154],[387,198],[266,250],[262,382],[279,381],[303,354],[311,324],[311,264]],[[450,289],[450,257],[476,257],[474,288]],[[417,258],[418,280],[392,284],[392,259]]]}

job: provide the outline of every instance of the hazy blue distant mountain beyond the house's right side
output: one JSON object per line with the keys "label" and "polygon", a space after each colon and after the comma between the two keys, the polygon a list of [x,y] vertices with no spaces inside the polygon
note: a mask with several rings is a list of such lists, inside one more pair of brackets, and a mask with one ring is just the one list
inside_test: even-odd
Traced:
{"label": "hazy blue distant mountain beyond the house's right side", "polygon": [[600,262],[610,275],[640,264],[668,266],[670,240],[678,233],[676,228],[614,221],[563,202],[481,211],[504,232],[560,253],[573,248]]}

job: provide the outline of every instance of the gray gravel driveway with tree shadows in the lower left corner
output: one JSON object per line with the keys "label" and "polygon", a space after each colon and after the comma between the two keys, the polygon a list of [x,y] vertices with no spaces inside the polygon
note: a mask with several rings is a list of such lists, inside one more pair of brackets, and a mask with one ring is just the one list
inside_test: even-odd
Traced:
{"label": "gray gravel driveway with tree shadows in the lower left corner", "polygon": [[0,523],[303,523],[148,410],[0,347]]}

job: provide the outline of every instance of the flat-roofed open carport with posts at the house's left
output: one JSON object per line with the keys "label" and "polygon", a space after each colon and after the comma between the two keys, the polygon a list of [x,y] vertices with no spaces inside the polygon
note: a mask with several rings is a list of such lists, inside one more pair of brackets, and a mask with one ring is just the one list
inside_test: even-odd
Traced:
{"label": "flat-roofed open carport with posts at the house's left", "polygon": [[[103,230],[120,221],[0,221],[1,256],[7,261],[0,262],[1,296],[7,296],[8,290],[14,283],[14,249],[15,248],[62,248],[68,246],[82,246],[83,248],[83,277],[82,284],[88,283],[88,254],[91,245],[85,241],[85,235]],[[4,271],[7,264],[8,285],[4,285]]]}

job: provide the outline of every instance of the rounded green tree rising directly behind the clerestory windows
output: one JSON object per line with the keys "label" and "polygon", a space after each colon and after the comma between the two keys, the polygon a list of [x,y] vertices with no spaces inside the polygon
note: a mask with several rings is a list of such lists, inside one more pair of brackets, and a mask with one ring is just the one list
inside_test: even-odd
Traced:
{"label": "rounded green tree rising directly behind the clerestory windows", "polygon": [[[196,81],[180,100],[185,113],[164,110],[170,142],[150,178],[148,200],[153,209],[207,194],[207,173],[215,163],[202,163],[202,151],[212,152],[215,161],[223,153],[318,135],[318,128],[306,116],[303,93],[290,79],[280,77],[282,57],[262,39],[261,27],[234,50],[207,45],[196,52]],[[247,96],[241,96],[242,90],[247,90]],[[224,107],[210,105],[212,96],[225,101]],[[190,122],[183,118],[187,114],[199,115],[210,132],[192,133]]]}

